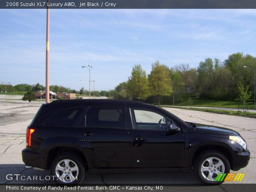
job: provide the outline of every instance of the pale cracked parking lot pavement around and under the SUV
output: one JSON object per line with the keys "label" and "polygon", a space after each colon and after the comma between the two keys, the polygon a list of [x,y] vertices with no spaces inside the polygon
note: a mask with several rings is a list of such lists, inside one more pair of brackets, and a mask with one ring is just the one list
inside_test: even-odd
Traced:
{"label": "pale cracked parking lot pavement around and under the SUV", "polygon": [[[40,107],[39,102],[4,101],[0,100],[0,184],[51,184],[48,180],[49,171],[26,169],[22,162],[21,151],[26,145],[26,127]],[[245,173],[241,182],[256,183],[256,119],[208,112],[198,112],[185,109],[165,108],[182,120],[222,126],[239,132],[246,140],[251,152],[251,159],[246,168],[235,173]],[[13,179],[7,180],[6,175],[12,174]],[[21,180],[14,176],[20,174],[23,178],[37,176],[37,180]],[[16,180],[18,178],[18,180]],[[46,179],[47,178],[47,179]],[[8,177],[10,179],[10,176]],[[85,184],[198,184],[194,172],[166,172],[164,170],[119,170],[113,172],[89,171],[86,173]],[[235,182],[232,182],[235,183]]]}

